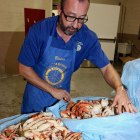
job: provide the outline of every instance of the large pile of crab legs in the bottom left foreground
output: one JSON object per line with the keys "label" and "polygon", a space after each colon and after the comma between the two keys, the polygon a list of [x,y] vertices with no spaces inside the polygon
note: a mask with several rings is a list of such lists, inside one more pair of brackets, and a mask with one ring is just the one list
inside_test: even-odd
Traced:
{"label": "large pile of crab legs in the bottom left foreground", "polygon": [[71,132],[50,112],[33,115],[24,122],[2,131],[0,140],[82,140],[81,133]]}

